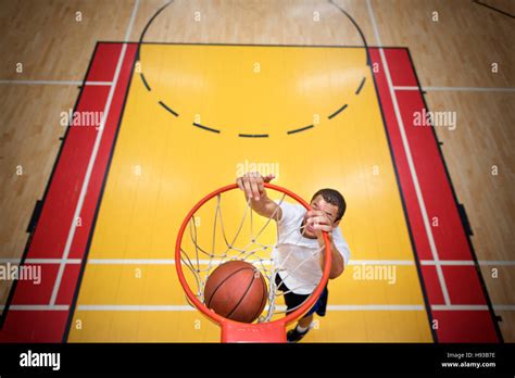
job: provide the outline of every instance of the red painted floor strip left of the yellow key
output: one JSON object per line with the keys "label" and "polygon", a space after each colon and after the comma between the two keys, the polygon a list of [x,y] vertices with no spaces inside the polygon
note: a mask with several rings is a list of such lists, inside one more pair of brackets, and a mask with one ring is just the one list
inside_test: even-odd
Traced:
{"label": "red painted floor strip left of the yellow key", "polygon": [[[68,259],[75,259],[78,262],[63,263],[64,272],[53,305],[51,305],[51,295],[60,269],[59,261],[38,264],[41,267],[40,285],[34,285],[32,281],[17,281],[13,286],[14,295],[4,311],[5,318],[0,330],[0,341],[61,342],[63,340],[79,278],[80,263],[85,256],[105,171],[120,125],[136,51],[136,43],[126,46],[95,160],[91,160],[91,155],[98,139],[99,125],[78,126],[72,124],[68,127],[25,255],[25,259],[29,259],[28,262],[30,259],[62,260],[86,173],[88,166],[92,164],[87,193],[79,213],[80,227],[76,228],[71,240]],[[86,81],[113,81],[121,54],[122,43],[98,43],[86,75]],[[111,88],[109,85],[84,85],[74,111],[104,112]],[[26,261],[25,259],[24,261]]]}

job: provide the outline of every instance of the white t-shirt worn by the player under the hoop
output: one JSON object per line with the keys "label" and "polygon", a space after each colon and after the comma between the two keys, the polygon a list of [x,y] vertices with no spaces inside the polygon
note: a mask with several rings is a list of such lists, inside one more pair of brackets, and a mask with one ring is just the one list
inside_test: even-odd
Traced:
{"label": "white t-shirt worn by the player under the hoop", "polygon": [[[278,222],[278,244],[272,259],[285,285],[296,294],[307,295],[322,279],[317,239],[305,238],[300,227],[306,210],[301,204],[280,203],[282,217]],[[332,241],[347,266],[351,252],[339,227],[332,230]]]}

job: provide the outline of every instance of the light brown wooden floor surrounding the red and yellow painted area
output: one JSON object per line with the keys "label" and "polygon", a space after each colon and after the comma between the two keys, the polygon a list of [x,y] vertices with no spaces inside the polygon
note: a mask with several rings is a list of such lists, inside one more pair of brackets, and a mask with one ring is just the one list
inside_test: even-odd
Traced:
{"label": "light brown wooden floor surrounding the red and yellow painted area", "polygon": [[[372,0],[373,15],[365,1],[335,2],[353,16],[369,46],[410,48],[429,109],[456,112],[456,129],[437,128],[438,138],[456,196],[467,210],[490,298],[503,306],[497,313],[503,318],[504,339],[515,341],[513,18],[468,0]],[[483,2],[515,14],[513,1]],[[128,39],[137,41],[165,3],[139,1]],[[96,42],[124,40],[134,7],[129,0],[0,1],[0,259],[22,255],[34,204],[43,196],[64,134],[60,115],[73,109]],[[197,11],[200,22],[194,21]],[[81,12],[80,22],[76,12]],[[312,22],[314,12],[319,12],[318,23]],[[335,5],[316,0],[176,0],[145,39],[362,45]],[[0,282],[0,303],[8,286]]]}

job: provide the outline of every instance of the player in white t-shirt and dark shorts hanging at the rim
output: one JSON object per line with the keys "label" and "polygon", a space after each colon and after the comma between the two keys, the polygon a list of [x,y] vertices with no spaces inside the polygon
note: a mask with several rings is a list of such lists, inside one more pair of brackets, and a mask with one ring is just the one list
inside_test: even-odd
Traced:
{"label": "player in white t-shirt and dark shorts hanging at the rim", "polygon": [[[301,204],[286,201],[279,205],[266,196],[263,185],[274,178],[275,175],[262,177],[259,173],[248,173],[236,181],[247,199],[250,199],[252,210],[264,217],[273,217],[278,224],[279,244],[274,249],[272,259],[280,267],[275,281],[277,288],[285,293],[287,313],[290,313],[310,297],[322,279],[325,259],[322,231],[328,234],[330,241],[329,279],[343,273],[350,251],[338,224],[346,213],[347,204],[338,191],[322,189],[311,199],[311,211],[306,211]],[[299,320],[294,329],[288,331],[288,342],[298,342],[307,333],[313,314],[325,316],[327,299],[326,287],[315,305]]]}

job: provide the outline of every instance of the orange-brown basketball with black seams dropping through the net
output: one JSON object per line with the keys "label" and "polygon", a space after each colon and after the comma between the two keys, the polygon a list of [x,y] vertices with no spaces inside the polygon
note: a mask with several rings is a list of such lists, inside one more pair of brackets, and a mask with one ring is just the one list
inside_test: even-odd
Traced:
{"label": "orange-brown basketball with black seams dropping through the net", "polygon": [[205,282],[205,305],[235,322],[254,322],[263,312],[267,298],[268,290],[261,272],[242,261],[219,265]]}

